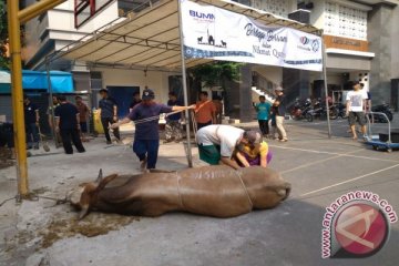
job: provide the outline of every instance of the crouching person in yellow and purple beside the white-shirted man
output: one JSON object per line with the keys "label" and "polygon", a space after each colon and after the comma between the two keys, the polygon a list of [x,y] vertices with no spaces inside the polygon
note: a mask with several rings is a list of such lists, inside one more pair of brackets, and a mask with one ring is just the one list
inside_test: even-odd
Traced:
{"label": "crouching person in yellow and purple beside the white-shirted man", "polygon": [[244,137],[256,141],[246,144],[239,143],[237,145],[233,157],[237,161],[238,165],[242,167],[255,165],[267,167],[268,163],[272,161],[272,152],[268,144],[265,141],[262,141],[260,134],[255,131],[246,131]]}

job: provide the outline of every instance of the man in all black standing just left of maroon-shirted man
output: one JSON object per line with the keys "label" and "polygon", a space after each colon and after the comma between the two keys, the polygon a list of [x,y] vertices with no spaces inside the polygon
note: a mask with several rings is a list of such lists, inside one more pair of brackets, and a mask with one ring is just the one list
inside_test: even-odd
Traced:
{"label": "man in all black standing just left of maroon-shirted man", "polygon": [[79,111],[75,105],[66,102],[64,95],[60,95],[59,101],[60,105],[54,110],[55,131],[61,134],[64,151],[66,154],[73,154],[72,141],[78,152],[83,153],[85,150],[79,135]]}

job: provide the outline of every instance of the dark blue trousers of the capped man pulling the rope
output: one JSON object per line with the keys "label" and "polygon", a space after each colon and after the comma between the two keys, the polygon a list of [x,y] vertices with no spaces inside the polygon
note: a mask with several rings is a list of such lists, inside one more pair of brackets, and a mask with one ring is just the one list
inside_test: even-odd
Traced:
{"label": "dark blue trousers of the capped man pulling the rope", "polygon": [[147,158],[147,168],[155,168],[160,140],[134,140],[133,152],[140,161]]}

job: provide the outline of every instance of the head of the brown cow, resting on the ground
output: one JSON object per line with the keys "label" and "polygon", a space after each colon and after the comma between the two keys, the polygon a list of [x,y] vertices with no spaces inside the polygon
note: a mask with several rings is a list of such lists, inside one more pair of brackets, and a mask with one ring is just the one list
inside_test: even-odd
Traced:
{"label": "head of the brown cow, resting on the ground", "polygon": [[103,178],[102,170],[100,170],[95,182],[80,184],[79,187],[68,193],[68,201],[72,206],[80,209],[79,219],[88,215],[90,208],[95,204],[99,192],[116,177],[117,174],[112,174]]}

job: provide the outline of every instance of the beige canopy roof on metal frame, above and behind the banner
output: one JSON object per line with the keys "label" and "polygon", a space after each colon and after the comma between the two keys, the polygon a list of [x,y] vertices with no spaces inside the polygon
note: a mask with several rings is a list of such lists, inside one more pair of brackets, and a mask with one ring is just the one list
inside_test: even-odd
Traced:
{"label": "beige canopy roof on metal frame, above and behind the banner", "polygon": [[[267,25],[290,27],[308,33],[319,30],[313,25],[276,17],[229,0],[200,0],[233,12],[245,14]],[[140,12],[109,28],[104,27],[78,43],[65,47],[61,57],[85,61],[94,65],[124,65],[145,69],[181,68],[181,42],[177,0],[160,0]],[[194,66],[209,59],[186,60],[186,66]]]}

